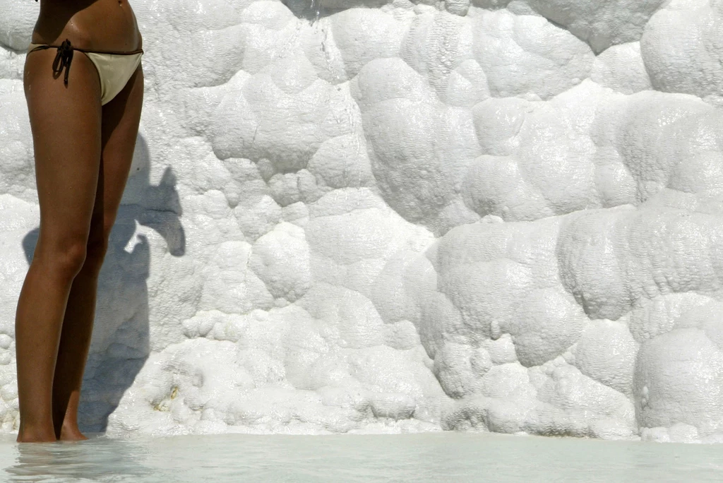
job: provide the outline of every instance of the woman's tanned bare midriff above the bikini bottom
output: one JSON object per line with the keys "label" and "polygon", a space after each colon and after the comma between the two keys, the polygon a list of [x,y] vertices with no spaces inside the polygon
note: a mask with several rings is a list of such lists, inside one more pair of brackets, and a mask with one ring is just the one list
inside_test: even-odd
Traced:
{"label": "woman's tanned bare midriff above the bikini bottom", "polygon": [[72,46],[90,51],[127,52],[142,48],[128,0],[40,0],[32,43]]}

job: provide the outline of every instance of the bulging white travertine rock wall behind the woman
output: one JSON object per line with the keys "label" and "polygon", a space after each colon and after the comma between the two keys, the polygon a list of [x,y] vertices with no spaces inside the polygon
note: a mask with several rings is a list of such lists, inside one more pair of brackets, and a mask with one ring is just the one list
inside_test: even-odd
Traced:
{"label": "bulging white travertine rock wall behind the woman", "polygon": [[[38,224],[16,3],[6,432]],[[722,1],[133,7],[145,106],[85,429],[723,441]]]}

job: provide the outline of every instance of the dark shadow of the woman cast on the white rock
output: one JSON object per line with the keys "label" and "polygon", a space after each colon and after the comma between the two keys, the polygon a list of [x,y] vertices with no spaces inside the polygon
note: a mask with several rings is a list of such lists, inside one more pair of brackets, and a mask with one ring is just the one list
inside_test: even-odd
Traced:
{"label": "dark shadow of the woman cast on the white rock", "polygon": [[[132,176],[108,241],[108,252],[98,278],[93,339],[83,377],[79,425],[86,432],[105,432],[108,416],[150,354],[148,287],[150,245],[137,225],[153,228],[174,257],[185,253],[176,176],[168,167],[158,185],[150,184],[150,155],[145,140],[136,142]],[[22,240],[30,262],[38,228]]]}

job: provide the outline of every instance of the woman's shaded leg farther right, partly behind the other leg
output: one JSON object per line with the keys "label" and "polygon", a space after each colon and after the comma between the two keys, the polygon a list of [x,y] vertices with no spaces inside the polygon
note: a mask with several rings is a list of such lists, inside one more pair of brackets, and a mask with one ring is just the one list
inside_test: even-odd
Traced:
{"label": "woman's shaded leg farther right, partly behind the other leg", "polygon": [[142,103],[143,71],[138,67],[121,93],[103,106],[100,176],[87,255],[70,291],[53,384],[53,419],[60,440],[86,439],[78,429],[77,412],[93,333],[98,273],[133,160]]}

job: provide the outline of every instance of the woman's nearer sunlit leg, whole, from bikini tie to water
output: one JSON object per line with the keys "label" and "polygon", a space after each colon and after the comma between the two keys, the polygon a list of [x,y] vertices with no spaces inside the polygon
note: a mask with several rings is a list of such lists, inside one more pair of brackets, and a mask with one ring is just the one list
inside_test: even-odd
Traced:
{"label": "woman's nearer sunlit leg, whole, from bikini tie to water", "polygon": [[101,153],[100,82],[76,55],[68,85],[54,79],[56,49],[27,55],[24,83],[35,149],[40,234],[15,319],[18,441],[53,441],[52,390],[73,279],[86,257]]}

